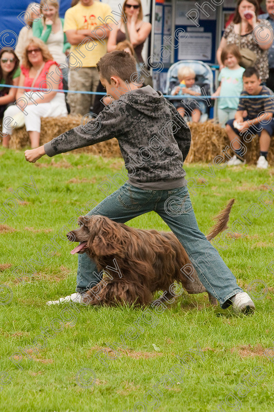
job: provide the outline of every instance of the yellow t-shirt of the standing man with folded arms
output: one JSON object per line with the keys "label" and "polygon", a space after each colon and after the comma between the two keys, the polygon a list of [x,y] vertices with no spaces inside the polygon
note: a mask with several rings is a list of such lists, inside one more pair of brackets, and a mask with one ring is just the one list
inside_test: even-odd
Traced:
{"label": "yellow t-shirt of the standing man with folded arms", "polygon": [[[98,19],[105,20],[107,16],[112,16],[111,8],[108,4],[94,1],[91,6],[83,6],[80,2],[69,8],[65,14],[63,30],[95,30],[96,26],[103,23]],[[112,16],[113,18],[113,16]],[[104,32],[99,28],[96,35],[100,40],[92,39],[88,43],[73,45],[70,50],[70,67],[95,67],[96,63],[106,53],[107,38],[103,38]]]}

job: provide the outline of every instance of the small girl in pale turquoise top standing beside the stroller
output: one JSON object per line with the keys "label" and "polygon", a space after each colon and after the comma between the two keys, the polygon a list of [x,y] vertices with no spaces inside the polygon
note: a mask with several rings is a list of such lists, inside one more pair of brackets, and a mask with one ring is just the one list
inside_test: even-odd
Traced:
{"label": "small girl in pale turquoise top standing beside the stroller", "polygon": [[224,47],[221,60],[224,69],[221,70],[218,80],[220,86],[212,96],[226,96],[218,99],[218,119],[222,128],[229,119],[233,119],[239,104],[239,98],[227,96],[240,96],[243,91],[243,73],[245,69],[239,65],[241,54],[235,44]]}

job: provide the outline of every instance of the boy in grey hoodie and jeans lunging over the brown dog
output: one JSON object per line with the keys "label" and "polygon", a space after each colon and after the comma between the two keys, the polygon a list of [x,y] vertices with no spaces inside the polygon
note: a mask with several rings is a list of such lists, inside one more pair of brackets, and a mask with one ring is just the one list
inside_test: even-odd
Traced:
{"label": "boy in grey hoodie and jeans lunging over the brown dog", "polygon": [[[132,81],[135,65],[126,52],[114,51],[101,57],[97,63],[100,81],[114,102],[87,124],[91,129],[78,126],[44,146],[26,150],[26,160],[35,162],[44,154],[53,156],[116,137],[128,181],[87,216],[100,214],[125,223],[154,210],[184,245],[201,283],[221,307],[232,304],[236,313],[254,310],[249,295],[237,285],[217,250],[199,231],[182,168],[190,148],[190,129],[162,93],[150,86],[140,89]],[[191,276],[190,272],[184,273]],[[73,298],[81,303],[81,294],[99,279],[94,262],[86,254],[79,255],[76,294],[54,303]]]}

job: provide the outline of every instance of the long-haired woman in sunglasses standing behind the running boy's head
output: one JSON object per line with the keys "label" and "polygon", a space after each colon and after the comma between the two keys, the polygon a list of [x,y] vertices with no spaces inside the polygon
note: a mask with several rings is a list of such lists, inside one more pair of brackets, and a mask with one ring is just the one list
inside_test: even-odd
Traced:
{"label": "long-haired woman in sunglasses standing behind the running boy's head", "polygon": [[[126,16],[126,27],[129,40],[140,63],[143,63],[142,50],[144,43],[151,31],[151,24],[143,22],[143,10],[141,0],[125,0],[123,11]],[[119,25],[111,25],[112,31],[109,33],[107,51],[112,52],[116,45],[126,40],[125,22],[123,17]]]}

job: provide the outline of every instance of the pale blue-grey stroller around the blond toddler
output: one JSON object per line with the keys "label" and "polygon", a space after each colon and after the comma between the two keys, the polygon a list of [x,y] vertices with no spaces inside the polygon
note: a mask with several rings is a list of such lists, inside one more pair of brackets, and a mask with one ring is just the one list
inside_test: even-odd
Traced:
{"label": "pale blue-grey stroller around the blond toddler", "polygon": [[[180,60],[174,63],[168,70],[165,94],[170,95],[174,86],[178,83],[178,69],[180,66],[190,66],[196,73],[195,83],[204,90],[206,96],[212,95],[214,92],[214,79],[211,68],[208,64],[199,60]],[[202,93],[203,95],[203,93]],[[174,99],[168,98],[171,103],[175,102]],[[199,99],[197,99],[199,103]],[[205,103],[205,100],[200,100]],[[209,118],[210,108],[213,107],[214,100],[209,99],[210,105],[205,103],[205,112],[201,113],[200,122],[205,122]]]}

